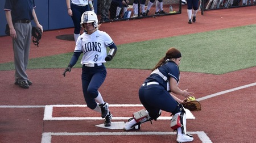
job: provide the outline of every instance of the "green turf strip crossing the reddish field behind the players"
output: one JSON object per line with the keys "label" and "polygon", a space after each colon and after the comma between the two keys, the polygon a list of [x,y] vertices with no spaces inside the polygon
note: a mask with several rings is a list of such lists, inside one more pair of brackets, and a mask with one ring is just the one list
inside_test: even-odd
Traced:
{"label": "green turf strip crossing the reddish field behind the players", "polygon": [[[117,46],[113,61],[105,65],[107,68],[152,69],[168,48],[175,47],[183,57],[181,71],[224,74],[256,65],[255,33],[256,24],[122,44]],[[33,58],[28,69],[66,68],[72,54]],[[74,68],[80,67],[79,60]],[[0,70],[14,70],[13,62],[0,64]]]}

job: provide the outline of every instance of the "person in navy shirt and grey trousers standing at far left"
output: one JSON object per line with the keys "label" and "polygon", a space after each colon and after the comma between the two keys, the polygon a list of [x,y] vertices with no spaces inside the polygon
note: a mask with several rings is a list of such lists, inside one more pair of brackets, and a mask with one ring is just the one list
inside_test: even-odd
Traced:
{"label": "person in navy shirt and grey trousers standing at far left", "polygon": [[35,1],[6,0],[5,13],[10,29],[10,36],[13,38],[13,52],[15,65],[15,85],[28,89],[32,82],[26,73],[28,56],[31,43],[31,20],[34,20],[36,27],[43,32],[35,13]]}

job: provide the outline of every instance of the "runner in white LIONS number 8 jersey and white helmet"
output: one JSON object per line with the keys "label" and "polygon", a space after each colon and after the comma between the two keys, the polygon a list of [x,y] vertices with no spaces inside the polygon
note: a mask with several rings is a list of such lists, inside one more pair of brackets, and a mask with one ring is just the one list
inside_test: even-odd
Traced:
{"label": "runner in white LIONS number 8 jersey and white helmet", "polygon": [[[75,51],[69,62],[66,72],[71,72],[82,53],[82,92],[87,106],[101,113],[105,118],[104,125],[111,125],[112,114],[109,111],[109,104],[104,102],[101,93],[98,91],[106,78],[104,62],[111,61],[117,52],[117,47],[108,33],[98,30],[97,15],[93,11],[85,11],[81,16],[81,26],[84,33],[77,39]],[[107,53],[107,47],[110,51]]]}

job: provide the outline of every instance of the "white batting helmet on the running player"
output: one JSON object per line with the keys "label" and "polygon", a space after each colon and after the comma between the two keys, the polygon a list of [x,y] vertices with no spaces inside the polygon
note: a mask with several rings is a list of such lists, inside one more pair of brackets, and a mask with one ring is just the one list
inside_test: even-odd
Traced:
{"label": "white batting helmet on the running player", "polygon": [[81,16],[81,23],[93,23],[95,28],[98,27],[98,17],[95,12],[93,11],[85,11]]}

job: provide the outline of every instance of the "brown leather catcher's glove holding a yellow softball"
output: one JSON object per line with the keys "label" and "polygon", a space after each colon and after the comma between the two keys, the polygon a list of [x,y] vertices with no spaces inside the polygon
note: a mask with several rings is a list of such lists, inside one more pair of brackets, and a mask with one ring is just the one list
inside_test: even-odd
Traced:
{"label": "brown leather catcher's glove holding a yellow softball", "polygon": [[194,97],[184,99],[183,107],[189,111],[200,111],[201,104]]}

